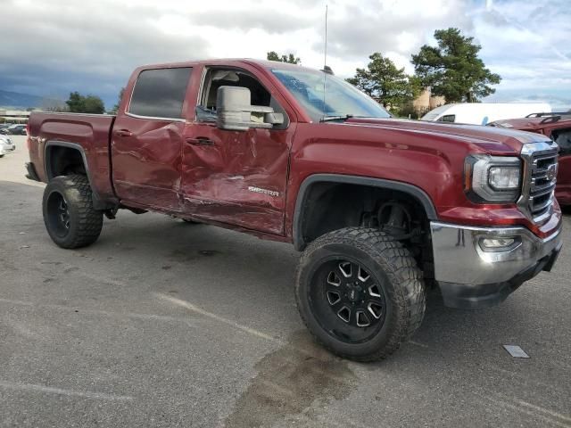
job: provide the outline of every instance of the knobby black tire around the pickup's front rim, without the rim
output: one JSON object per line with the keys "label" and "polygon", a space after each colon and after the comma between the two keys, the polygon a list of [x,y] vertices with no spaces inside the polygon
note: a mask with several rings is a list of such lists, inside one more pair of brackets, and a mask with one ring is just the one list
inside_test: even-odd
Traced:
{"label": "knobby black tire around the pickup's front rim, without the rim", "polygon": [[[384,324],[365,342],[346,342],[323,325],[310,297],[310,287],[319,266],[329,259],[359,260],[382,284],[386,308]],[[314,295],[314,294],[313,294]],[[426,291],[415,259],[392,236],[373,228],[346,227],[320,236],[303,251],[295,275],[295,299],[303,322],[328,350],[356,361],[386,358],[410,339],[422,323]],[[315,312],[315,313],[314,313]],[[329,318],[328,318],[329,319]]]}

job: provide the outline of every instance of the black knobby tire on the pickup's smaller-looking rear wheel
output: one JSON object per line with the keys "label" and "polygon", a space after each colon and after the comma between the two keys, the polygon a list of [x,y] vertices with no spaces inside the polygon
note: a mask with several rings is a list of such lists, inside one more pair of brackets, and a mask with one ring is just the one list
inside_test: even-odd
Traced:
{"label": "black knobby tire on the pickup's smaller-looking rear wheel", "polygon": [[[69,227],[54,226],[54,198],[62,197],[68,211]],[[51,208],[50,208],[51,207]],[[95,243],[103,227],[103,211],[93,208],[91,186],[86,176],[54,177],[44,191],[42,201],[48,235],[62,248],[80,248]]]}

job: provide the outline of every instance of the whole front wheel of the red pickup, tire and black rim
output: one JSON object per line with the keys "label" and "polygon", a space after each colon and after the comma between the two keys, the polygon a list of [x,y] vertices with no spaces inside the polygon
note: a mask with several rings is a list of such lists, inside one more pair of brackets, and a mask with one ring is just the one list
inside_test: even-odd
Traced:
{"label": "whole front wheel of the red pickup, tire and black rim", "polygon": [[318,342],[343,358],[382,359],[416,331],[425,286],[410,251],[377,229],[347,227],[303,252],[295,297]]}

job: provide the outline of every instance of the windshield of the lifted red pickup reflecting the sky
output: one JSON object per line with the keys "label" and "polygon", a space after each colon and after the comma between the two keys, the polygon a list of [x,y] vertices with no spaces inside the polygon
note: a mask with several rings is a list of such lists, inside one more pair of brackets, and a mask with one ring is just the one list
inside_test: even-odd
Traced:
{"label": "windshield of the lifted red pickup reflecting the sky", "polygon": [[346,115],[360,118],[391,117],[379,103],[360,92],[355,86],[323,71],[291,69],[271,71],[315,121],[330,116]]}

